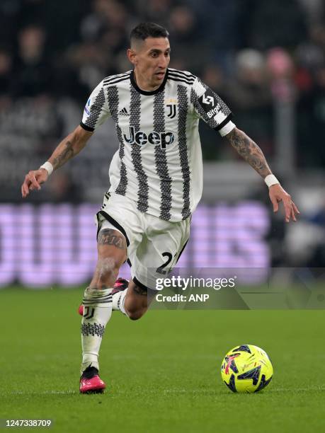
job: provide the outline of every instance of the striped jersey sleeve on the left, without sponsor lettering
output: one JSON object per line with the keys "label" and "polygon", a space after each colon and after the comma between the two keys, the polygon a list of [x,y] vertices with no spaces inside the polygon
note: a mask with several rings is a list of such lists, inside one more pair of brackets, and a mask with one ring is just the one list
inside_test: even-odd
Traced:
{"label": "striped jersey sleeve on the left, without sponsor lettering", "polygon": [[80,125],[86,129],[86,131],[93,132],[97,127],[102,125],[108,117],[110,117],[110,111],[106,101],[103,81],[101,81],[86,102]]}

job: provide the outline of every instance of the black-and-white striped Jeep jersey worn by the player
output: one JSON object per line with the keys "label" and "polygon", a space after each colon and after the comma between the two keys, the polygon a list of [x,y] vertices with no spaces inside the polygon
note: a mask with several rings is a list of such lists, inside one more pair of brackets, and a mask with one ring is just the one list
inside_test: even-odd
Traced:
{"label": "black-and-white striped Jeep jersey worn by the player", "polygon": [[81,127],[95,131],[113,117],[120,146],[110,163],[110,190],[166,221],[192,214],[203,189],[198,122],[225,135],[232,112],[188,71],[168,69],[156,91],[142,91],[133,71],[109,76],[94,89]]}

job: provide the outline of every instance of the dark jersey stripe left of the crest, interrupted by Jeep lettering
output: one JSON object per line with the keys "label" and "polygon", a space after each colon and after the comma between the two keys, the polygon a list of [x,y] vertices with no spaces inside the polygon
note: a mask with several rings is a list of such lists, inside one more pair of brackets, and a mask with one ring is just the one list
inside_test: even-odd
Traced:
{"label": "dark jersey stripe left of the crest, interrupted by Jeep lettering", "polygon": [[[164,117],[164,98],[165,91],[156,93],[154,96],[154,131],[165,131]],[[154,148],[154,161],[156,165],[156,173],[160,178],[161,204],[160,218],[166,221],[171,219],[171,177],[169,176],[166,149],[161,149],[161,146]]]}

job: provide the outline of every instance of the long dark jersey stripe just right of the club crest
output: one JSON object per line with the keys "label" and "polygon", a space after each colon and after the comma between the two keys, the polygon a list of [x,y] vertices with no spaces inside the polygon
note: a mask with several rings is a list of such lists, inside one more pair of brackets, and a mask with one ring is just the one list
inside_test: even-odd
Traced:
{"label": "long dark jersey stripe just right of the club crest", "polygon": [[[179,107],[188,106],[188,92],[185,86],[177,86]],[[186,139],[187,110],[178,110],[178,151],[183,175],[183,209],[182,217],[190,216],[190,166],[188,164],[188,146]]]}

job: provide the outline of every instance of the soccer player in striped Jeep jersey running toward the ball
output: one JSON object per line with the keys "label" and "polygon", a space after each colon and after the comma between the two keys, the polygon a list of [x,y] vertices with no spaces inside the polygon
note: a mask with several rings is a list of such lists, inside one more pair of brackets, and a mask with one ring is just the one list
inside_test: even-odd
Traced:
{"label": "soccer player in striped Jeep jersey running toward the ball", "polygon": [[[25,176],[21,187],[23,197],[40,190],[52,171],[79,154],[93,132],[113,117],[120,146],[110,163],[110,189],[96,215],[98,262],[83,299],[81,393],[106,387],[98,376],[98,354],[112,310],[132,320],[142,317],[156,277],[173,268],[186,246],[190,216],[203,188],[200,119],[226,137],[266,181],[274,212],[283,202],[285,221],[296,221],[299,213],[261,149],[236,128],[219,96],[190,72],[169,69],[167,30],[142,23],[132,30],[130,42],[127,57],[133,69],[98,84],[81,124],[45,164]],[[115,282],[125,260],[132,279]]]}

